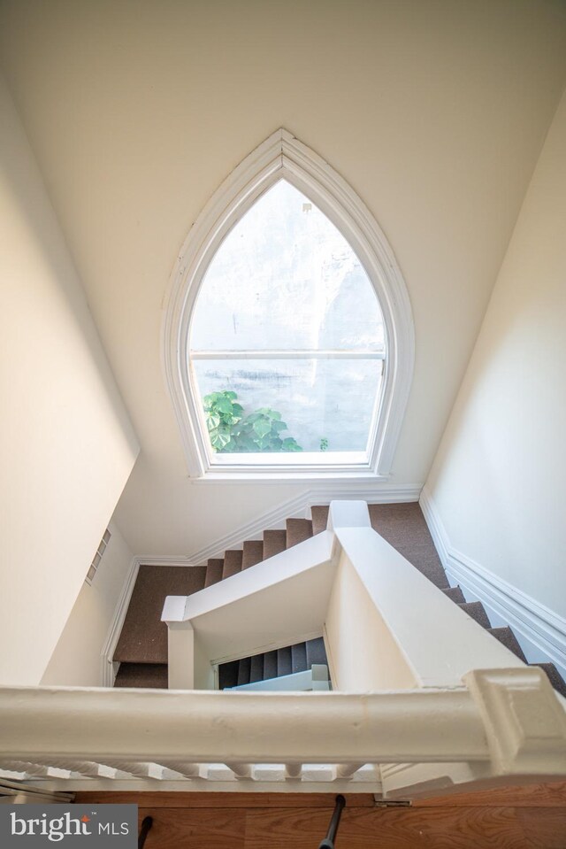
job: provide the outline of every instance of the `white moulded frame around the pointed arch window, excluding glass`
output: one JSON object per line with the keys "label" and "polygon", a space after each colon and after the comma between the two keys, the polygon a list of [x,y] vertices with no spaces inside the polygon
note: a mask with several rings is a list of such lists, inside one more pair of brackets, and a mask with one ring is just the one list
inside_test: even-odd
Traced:
{"label": "white moulded frame around the pointed arch window, excluding glass", "polygon": [[[286,454],[275,462],[261,455],[215,455],[204,428],[203,412],[188,367],[195,301],[204,274],[226,234],[267,189],[280,179],[292,183],[333,221],[362,262],[383,313],[386,364],[379,409],[373,417],[368,451],[311,461]],[[252,151],[215,191],[190,229],[173,268],[164,313],[164,372],[195,478],[272,478],[273,480],[371,477],[391,472],[403,414],[409,398],[415,337],[409,294],[386,236],[354,189],[324,159],[285,129]],[[330,461],[329,461],[330,460]]]}

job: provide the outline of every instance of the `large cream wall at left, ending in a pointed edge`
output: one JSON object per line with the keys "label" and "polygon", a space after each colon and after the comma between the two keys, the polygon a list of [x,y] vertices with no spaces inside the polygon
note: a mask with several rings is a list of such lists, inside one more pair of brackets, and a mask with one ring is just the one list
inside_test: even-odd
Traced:
{"label": "large cream wall at left, ending in a pointed edge", "polygon": [[39,683],[138,451],[0,83],[0,682]]}

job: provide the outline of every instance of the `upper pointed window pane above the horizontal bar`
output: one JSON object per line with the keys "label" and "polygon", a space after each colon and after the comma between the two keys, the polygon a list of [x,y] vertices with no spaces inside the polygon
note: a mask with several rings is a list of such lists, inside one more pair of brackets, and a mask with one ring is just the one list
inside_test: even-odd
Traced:
{"label": "upper pointed window pane above the horizontal bar", "polygon": [[226,236],[195,306],[191,349],[375,350],[378,299],[362,264],[323,212],[287,181]]}

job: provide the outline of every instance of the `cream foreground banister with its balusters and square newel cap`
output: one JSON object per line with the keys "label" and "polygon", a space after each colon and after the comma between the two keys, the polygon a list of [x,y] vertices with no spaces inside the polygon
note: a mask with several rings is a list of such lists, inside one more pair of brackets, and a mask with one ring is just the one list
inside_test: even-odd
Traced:
{"label": "cream foreground banister with its balusters and square newel cap", "polygon": [[[394,793],[564,776],[566,714],[541,670],[477,670],[465,684],[365,694],[0,688],[0,771],[189,779],[191,789],[366,782]],[[378,778],[368,765],[390,766]]]}

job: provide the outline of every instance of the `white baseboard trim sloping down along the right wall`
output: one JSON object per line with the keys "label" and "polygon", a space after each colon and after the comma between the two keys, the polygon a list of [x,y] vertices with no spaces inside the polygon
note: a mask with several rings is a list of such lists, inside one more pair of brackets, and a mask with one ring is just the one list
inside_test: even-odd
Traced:
{"label": "white baseboard trim sloping down along the right wall", "polygon": [[420,506],[450,583],[461,584],[464,594],[466,589],[470,590],[488,608],[488,614],[491,609],[509,624],[519,643],[524,637],[563,674],[562,670],[566,670],[566,619],[458,552],[450,544],[426,486],[421,492]]}

